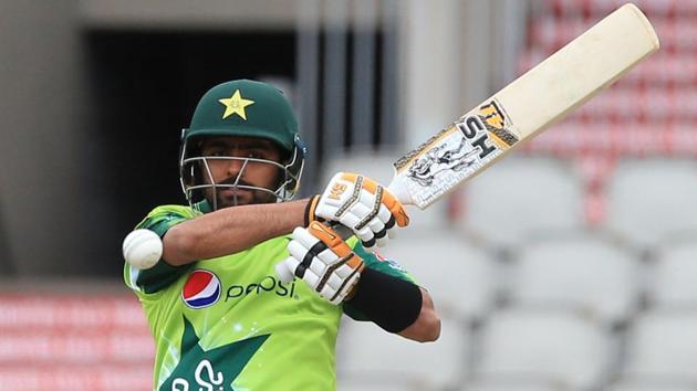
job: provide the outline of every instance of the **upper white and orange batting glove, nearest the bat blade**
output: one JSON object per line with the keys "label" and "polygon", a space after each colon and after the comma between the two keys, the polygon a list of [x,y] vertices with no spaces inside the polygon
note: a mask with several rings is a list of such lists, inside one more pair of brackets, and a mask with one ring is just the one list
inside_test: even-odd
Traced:
{"label": "upper white and orange batting glove, nearest the bat blade", "polygon": [[351,172],[334,175],[324,192],[312,200],[309,214],[310,221],[322,218],[350,228],[368,251],[385,245],[395,223],[409,223],[404,205],[387,189]]}

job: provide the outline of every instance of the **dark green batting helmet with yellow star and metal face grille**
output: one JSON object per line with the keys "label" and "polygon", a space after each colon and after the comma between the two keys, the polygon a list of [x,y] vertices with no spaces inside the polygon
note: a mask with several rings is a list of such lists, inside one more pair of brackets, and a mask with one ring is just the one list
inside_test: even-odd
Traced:
{"label": "dark green batting helmet with yellow star and metal face grille", "polygon": [[[282,175],[278,187],[264,189],[250,186],[215,183],[204,176],[210,175],[207,165],[211,158],[199,154],[199,144],[209,137],[258,137],[272,141],[282,152],[281,161],[252,158],[227,158],[261,161],[277,166]],[[206,190],[237,186],[261,190],[275,196],[277,201],[292,199],[300,187],[306,148],[298,134],[298,120],[283,93],[261,82],[238,80],[210,88],[199,101],[189,128],[183,130],[179,159],[181,189],[196,205],[206,199]],[[221,158],[218,158],[221,159]],[[240,172],[239,177],[242,176]],[[239,180],[239,179],[238,179]],[[208,200],[217,209],[217,197]]]}

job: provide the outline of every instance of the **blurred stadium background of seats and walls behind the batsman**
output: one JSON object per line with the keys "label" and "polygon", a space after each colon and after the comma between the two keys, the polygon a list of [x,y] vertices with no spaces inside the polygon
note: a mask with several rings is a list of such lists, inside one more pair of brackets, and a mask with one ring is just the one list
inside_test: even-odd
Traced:
{"label": "blurred stadium background of seats and walls behind the batsman", "polygon": [[[293,101],[306,194],[389,163],[621,0],[0,0],[0,389],[146,390],[121,241],[184,201],[214,84]],[[428,212],[385,255],[436,298],[418,346],[346,323],[340,390],[697,390],[697,0],[662,51]],[[570,75],[570,77],[572,77]]]}

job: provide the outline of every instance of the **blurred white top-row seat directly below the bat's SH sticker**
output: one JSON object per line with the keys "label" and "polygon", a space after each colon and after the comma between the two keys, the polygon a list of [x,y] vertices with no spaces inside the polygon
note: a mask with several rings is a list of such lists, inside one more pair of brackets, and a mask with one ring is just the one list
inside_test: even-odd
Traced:
{"label": "blurred white top-row seat directly below the bat's SH sticker", "polygon": [[584,224],[583,186],[569,162],[511,157],[465,190],[458,228],[492,244],[511,246],[535,233]]}

